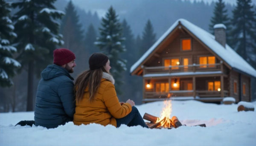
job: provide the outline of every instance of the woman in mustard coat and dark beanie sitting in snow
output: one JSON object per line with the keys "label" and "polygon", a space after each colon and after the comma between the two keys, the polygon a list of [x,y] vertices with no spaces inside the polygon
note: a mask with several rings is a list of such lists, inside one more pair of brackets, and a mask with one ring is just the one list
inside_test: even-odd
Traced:
{"label": "woman in mustard coat and dark beanie sitting in snow", "polygon": [[121,124],[147,127],[133,100],[119,103],[116,96],[115,80],[109,73],[108,57],[94,53],[89,58],[90,70],[78,76],[75,82],[76,113],[74,124],[99,123],[101,125]]}

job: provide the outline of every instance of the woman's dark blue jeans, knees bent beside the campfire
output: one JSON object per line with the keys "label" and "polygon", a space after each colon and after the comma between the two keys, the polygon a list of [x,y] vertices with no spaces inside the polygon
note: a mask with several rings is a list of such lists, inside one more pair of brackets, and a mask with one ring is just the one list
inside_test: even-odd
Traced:
{"label": "woman's dark blue jeans, knees bent beside the campfire", "polygon": [[132,110],[131,113],[128,114],[127,116],[120,118],[120,119],[116,119],[116,127],[121,126],[121,124],[125,124],[127,126],[143,126],[143,127],[147,127],[148,126],[145,124],[143,118],[140,115],[140,112],[138,111],[138,109],[135,106],[132,106]]}

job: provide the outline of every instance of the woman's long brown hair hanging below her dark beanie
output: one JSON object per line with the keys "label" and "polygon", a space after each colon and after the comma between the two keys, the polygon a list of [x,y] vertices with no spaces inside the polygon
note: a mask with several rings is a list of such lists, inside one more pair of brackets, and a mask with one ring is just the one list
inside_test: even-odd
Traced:
{"label": "woman's long brown hair hanging below her dark beanie", "polygon": [[74,86],[76,101],[79,102],[82,100],[84,96],[84,90],[87,87],[89,88],[90,101],[95,99],[95,95],[98,91],[103,72],[106,72],[106,70],[102,66],[99,69],[87,70],[79,74]]}

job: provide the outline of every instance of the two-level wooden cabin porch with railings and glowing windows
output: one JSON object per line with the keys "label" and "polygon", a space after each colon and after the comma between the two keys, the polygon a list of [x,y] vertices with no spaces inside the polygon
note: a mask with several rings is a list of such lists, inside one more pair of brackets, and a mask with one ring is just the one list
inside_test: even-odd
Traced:
{"label": "two-level wooden cabin porch with railings and glowing windows", "polygon": [[215,102],[229,95],[228,77],[222,62],[143,69],[143,102],[168,98]]}

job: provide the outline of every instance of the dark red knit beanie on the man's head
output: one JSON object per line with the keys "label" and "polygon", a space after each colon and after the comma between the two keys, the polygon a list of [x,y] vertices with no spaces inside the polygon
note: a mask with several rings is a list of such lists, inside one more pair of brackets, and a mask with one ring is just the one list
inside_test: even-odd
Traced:
{"label": "dark red knit beanie on the man's head", "polygon": [[76,59],[75,54],[68,49],[60,48],[53,51],[53,63],[58,66],[67,64],[74,59]]}

